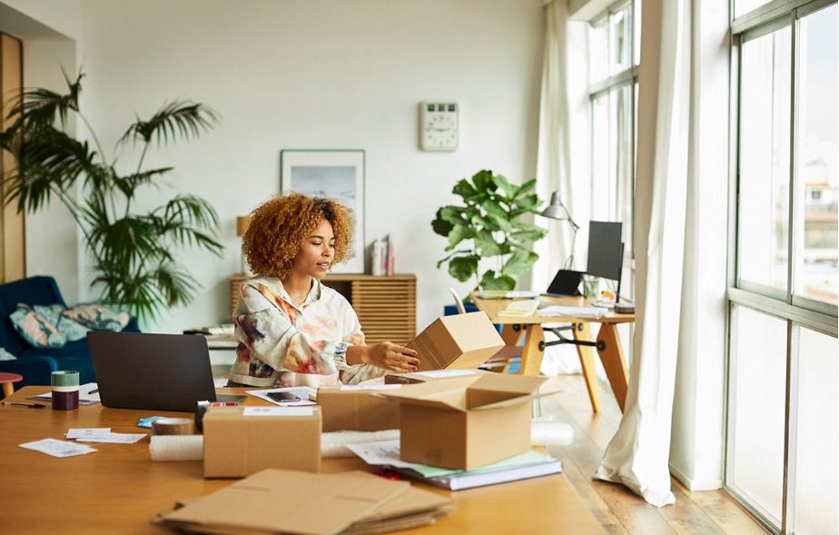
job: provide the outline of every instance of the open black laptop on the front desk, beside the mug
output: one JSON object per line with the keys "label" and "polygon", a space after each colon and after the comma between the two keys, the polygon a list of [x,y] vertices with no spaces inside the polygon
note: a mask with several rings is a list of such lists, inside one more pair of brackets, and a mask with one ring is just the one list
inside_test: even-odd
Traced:
{"label": "open black laptop on the front desk, beside the mug", "polygon": [[92,331],[87,342],[104,407],[194,412],[197,401],[245,397],[216,396],[203,336]]}

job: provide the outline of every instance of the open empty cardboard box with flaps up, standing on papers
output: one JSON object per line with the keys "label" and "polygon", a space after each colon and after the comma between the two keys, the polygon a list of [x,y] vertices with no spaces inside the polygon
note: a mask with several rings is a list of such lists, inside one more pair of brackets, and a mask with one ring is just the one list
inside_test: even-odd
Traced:
{"label": "open empty cardboard box with flaps up, standing on papers", "polygon": [[472,470],[530,450],[530,401],[545,380],[481,373],[378,395],[400,401],[402,461]]}

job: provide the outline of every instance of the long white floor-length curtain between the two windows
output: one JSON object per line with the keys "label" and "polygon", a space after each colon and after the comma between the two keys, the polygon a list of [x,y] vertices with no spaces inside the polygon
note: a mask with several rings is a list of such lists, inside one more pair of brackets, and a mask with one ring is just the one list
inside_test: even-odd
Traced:
{"label": "long white floor-length curtain between the two windows", "polygon": [[637,317],[623,419],[596,477],[660,507],[676,381],[688,173],[690,0],[643,2],[638,70]]}

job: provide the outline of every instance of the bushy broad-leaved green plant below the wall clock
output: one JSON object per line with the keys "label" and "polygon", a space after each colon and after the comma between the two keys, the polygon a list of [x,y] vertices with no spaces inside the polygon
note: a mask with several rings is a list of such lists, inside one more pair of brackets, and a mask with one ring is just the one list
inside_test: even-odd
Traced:
{"label": "bushy broad-leaved green plant below the wall clock", "polygon": [[[526,221],[528,214],[538,213],[535,186],[536,179],[516,185],[488,170],[460,179],[452,193],[463,204],[443,206],[431,222],[434,232],[448,239],[449,254],[437,267],[449,263],[452,277],[460,282],[474,277],[482,290],[513,290],[516,275],[538,260],[533,243],[548,233]],[[479,274],[479,261],[486,258],[495,261],[495,268]]]}

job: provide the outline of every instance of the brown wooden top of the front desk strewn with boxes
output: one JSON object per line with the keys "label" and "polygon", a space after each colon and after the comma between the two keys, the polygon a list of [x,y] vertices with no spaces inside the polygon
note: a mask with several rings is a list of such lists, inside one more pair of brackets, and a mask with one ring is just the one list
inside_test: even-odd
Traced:
{"label": "brown wooden top of the front desk strewn with boxes", "polygon": [[[11,401],[47,391],[29,386]],[[240,393],[240,389],[221,389]],[[267,404],[249,397],[247,404]],[[174,533],[153,525],[175,500],[221,489],[233,480],[204,480],[200,461],[155,462],[148,440],[136,444],[90,444],[96,452],[57,459],[18,444],[63,439],[69,428],[110,427],[139,432],[137,419],[184,412],[133,411],[87,405],[78,411],[0,406],[0,532]],[[357,458],[324,459],[323,471],[368,470]],[[606,533],[562,474],[491,487],[449,492],[455,512],[434,526],[400,531],[418,534]],[[278,500],[281,497],[278,497]],[[254,511],[259,514],[259,511]]]}

